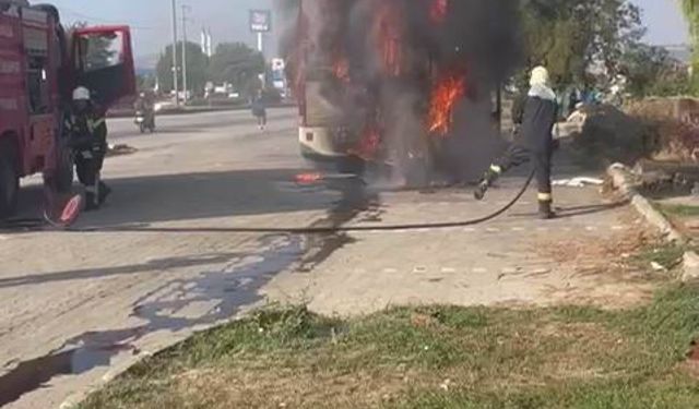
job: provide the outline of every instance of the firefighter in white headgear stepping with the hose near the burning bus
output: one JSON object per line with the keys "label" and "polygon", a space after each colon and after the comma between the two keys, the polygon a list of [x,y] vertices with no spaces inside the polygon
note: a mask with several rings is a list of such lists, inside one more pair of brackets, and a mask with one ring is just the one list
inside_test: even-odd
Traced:
{"label": "firefighter in white headgear stepping with the hose near the burning bus", "polygon": [[[505,155],[490,165],[478,184],[474,196],[483,200],[488,188],[506,171],[526,163],[533,163],[538,184],[538,213],[542,219],[555,217],[552,209],[552,156],[554,152],[553,130],[558,106],[556,93],[550,88],[548,71],[537,67],[532,71],[531,88],[523,104],[521,116],[514,112],[514,143]],[[518,117],[519,118],[518,120]],[[517,125],[517,122],[520,125]]]}

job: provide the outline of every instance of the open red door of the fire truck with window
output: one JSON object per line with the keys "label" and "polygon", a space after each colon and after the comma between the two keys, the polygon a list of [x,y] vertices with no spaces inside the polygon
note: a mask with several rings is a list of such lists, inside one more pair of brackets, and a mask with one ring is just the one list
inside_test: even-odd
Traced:
{"label": "open red door of the fire truck with window", "polygon": [[108,109],[135,95],[135,72],[128,27],[80,28],[73,33],[76,85],[86,86]]}

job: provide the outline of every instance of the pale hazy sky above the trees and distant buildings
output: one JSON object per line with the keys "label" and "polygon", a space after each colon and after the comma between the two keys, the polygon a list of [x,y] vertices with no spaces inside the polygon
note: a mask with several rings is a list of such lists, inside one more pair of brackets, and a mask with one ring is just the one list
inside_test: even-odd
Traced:
{"label": "pale hazy sky above the trees and distant buildings", "polygon": [[[250,9],[270,9],[280,0],[177,0],[189,7],[189,38],[199,43],[202,27],[210,27],[214,43],[238,40],[256,46],[248,28]],[[643,9],[649,27],[645,40],[656,45],[687,43],[687,26],[682,19],[678,0],[631,0]],[[137,60],[154,60],[171,41],[171,0],[52,0],[67,22],[91,24],[129,24],[134,34]],[[178,10],[181,12],[181,10]],[[179,16],[181,17],[181,15]],[[181,24],[181,22],[180,22]],[[274,53],[275,40],[269,38],[268,57]]]}

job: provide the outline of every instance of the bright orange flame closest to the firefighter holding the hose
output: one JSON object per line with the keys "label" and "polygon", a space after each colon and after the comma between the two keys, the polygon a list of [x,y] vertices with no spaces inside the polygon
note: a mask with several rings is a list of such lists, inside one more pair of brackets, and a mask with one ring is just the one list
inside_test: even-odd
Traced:
{"label": "bright orange flame closest to the firefighter holding the hose", "polygon": [[429,106],[429,132],[446,135],[453,122],[452,113],[457,103],[466,93],[466,77],[463,74],[447,75],[433,89]]}

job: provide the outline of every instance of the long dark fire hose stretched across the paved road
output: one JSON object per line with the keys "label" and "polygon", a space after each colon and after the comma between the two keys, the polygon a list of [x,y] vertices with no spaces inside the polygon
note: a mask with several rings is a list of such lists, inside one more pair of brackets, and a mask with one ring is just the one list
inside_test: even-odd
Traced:
{"label": "long dark fire hose stretched across the paved road", "polygon": [[505,206],[489,215],[471,220],[445,221],[445,222],[420,222],[386,226],[329,226],[329,227],[206,227],[206,228],[165,228],[165,227],[106,227],[106,228],[73,228],[61,226],[51,221],[48,217],[44,219],[16,219],[0,224],[0,231],[9,229],[39,229],[49,225],[61,231],[69,232],[210,232],[210,233],[266,233],[266,234],[329,234],[339,232],[360,232],[360,231],[395,231],[395,230],[425,230],[425,229],[448,229],[479,225],[493,220],[512,208],[522,199],[534,179],[535,171],[532,170],[529,178],[519,190],[517,195]]}

